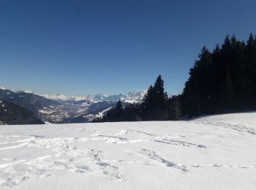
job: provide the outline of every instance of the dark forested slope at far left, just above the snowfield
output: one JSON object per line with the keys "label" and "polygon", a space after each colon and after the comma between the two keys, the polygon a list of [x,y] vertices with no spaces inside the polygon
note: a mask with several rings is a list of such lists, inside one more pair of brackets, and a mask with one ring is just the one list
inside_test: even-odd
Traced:
{"label": "dark forested slope at far left, just above the snowfield", "polygon": [[[0,99],[0,121],[6,124],[43,124],[34,114],[18,104]],[[0,123],[1,123],[0,122]]]}

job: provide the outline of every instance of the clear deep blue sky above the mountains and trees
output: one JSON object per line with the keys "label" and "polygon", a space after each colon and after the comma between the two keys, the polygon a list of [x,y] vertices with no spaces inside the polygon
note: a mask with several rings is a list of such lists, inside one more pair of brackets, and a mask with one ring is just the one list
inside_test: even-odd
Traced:
{"label": "clear deep blue sky above the mountains and trees", "polygon": [[181,93],[200,48],[256,33],[256,1],[1,0],[0,86],[119,94],[157,75]]}

